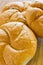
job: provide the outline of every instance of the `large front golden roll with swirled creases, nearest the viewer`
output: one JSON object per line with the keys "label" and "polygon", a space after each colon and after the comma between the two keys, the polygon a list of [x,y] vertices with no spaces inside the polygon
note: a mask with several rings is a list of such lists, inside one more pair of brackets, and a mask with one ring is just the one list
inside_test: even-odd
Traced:
{"label": "large front golden roll with swirled creases, nearest the viewer", "polygon": [[26,65],[35,55],[37,39],[21,22],[0,26],[0,65]]}

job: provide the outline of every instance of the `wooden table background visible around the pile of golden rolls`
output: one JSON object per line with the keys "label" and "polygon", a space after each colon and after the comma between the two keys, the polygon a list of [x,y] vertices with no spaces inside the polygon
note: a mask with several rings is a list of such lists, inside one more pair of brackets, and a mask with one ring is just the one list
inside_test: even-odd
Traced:
{"label": "wooden table background visible around the pile of golden rolls", "polygon": [[[13,1],[23,1],[23,0],[0,0],[0,10],[2,9],[3,5]],[[37,46],[36,54],[27,65],[43,65],[43,39],[38,38],[38,46]]]}

